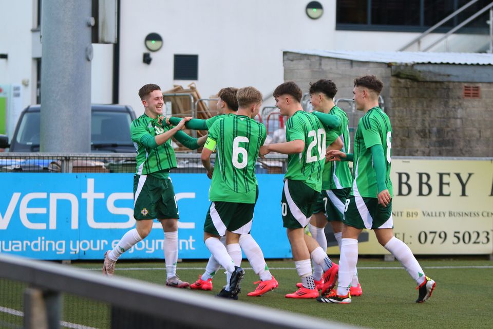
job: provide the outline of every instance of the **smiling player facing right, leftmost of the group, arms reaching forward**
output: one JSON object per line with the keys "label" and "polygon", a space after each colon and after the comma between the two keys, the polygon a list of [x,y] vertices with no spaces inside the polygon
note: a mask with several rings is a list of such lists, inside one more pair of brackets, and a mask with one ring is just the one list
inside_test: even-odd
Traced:
{"label": "smiling player facing right, leftmost of the group, arms reaching forward", "polygon": [[113,250],[106,251],[103,273],[112,276],[115,263],[120,255],[144,239],[153,228],[155,218],[164,230],[164,258],[166,261],[166,285],[186,288],[187,282],[176,275],[178,260],[178,206],[169,170],[176,168],[175,152],[171,137],[185,147],[198,149],[206,136],[192,138],[182,132],[182,119],[176,127],[163,125],[163,94],[156,84],[146,84],[139,90],[144,105],[144,114],[132,121],[130,133],[137,149],[137,168],[134,176],[134,217],[135,229],[125,233]]}

